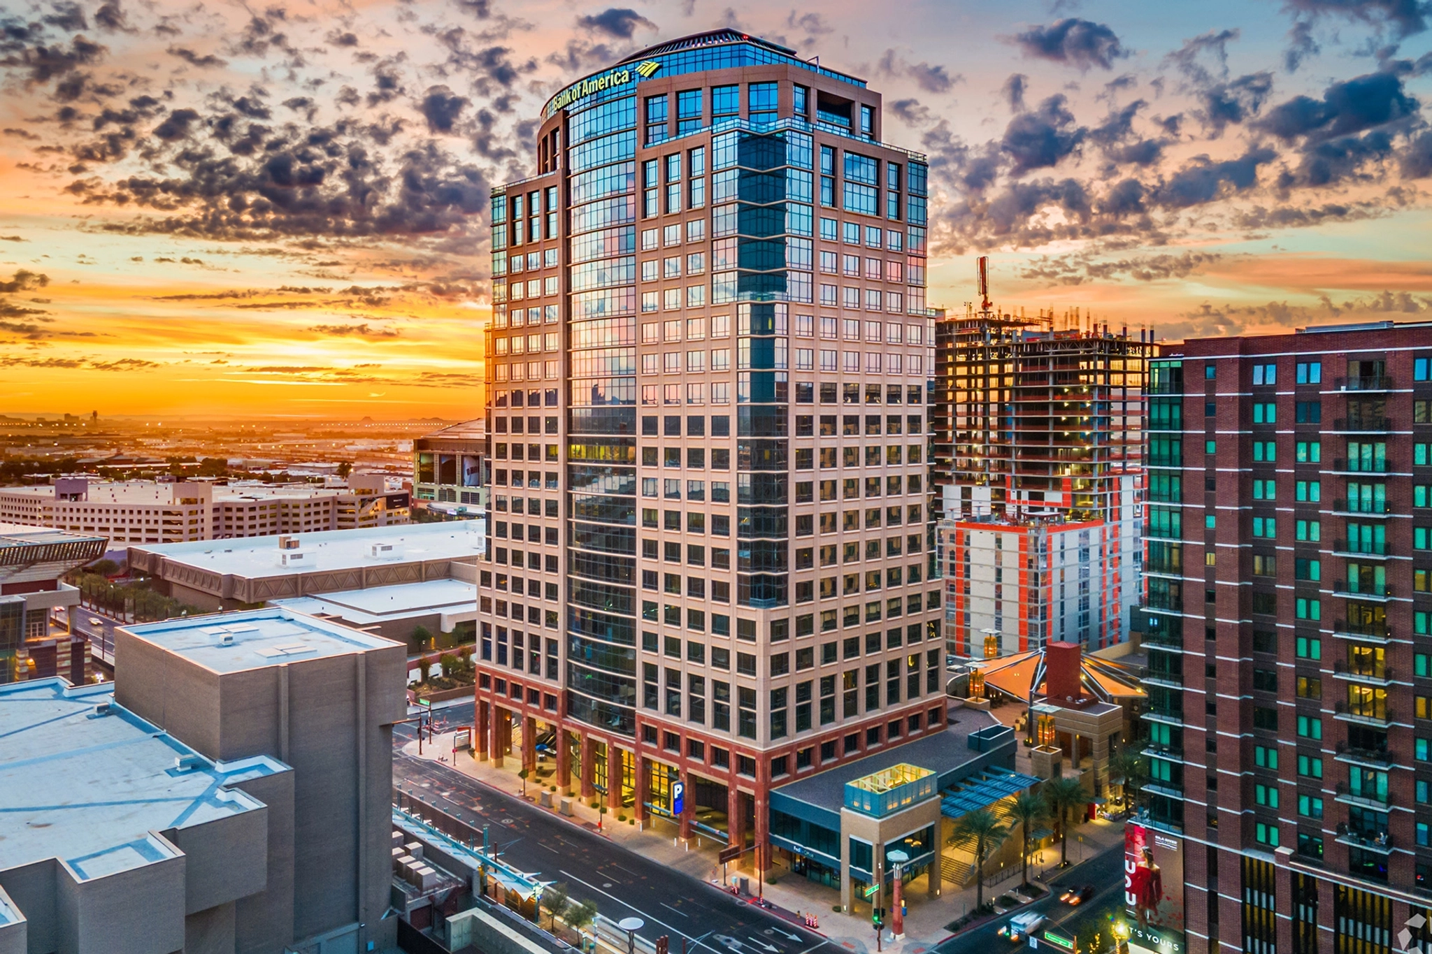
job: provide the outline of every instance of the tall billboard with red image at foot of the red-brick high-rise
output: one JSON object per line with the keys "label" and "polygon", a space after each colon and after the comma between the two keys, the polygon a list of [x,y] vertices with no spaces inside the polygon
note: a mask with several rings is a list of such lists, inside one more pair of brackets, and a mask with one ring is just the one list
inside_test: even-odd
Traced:
{"label": "tall billboard with red image at foot of the red-brick high-rise", "polygon": [[1124,825],[1124,907],[1130,951],[1184,954],[1183,838]]}

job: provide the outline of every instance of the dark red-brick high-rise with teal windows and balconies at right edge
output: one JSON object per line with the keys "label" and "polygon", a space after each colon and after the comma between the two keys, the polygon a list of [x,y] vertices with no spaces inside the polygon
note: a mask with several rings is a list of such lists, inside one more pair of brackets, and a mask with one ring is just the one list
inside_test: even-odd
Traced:
{"label": "dark red-brick high-rise with teal windows and balconies at right edge", "polygon": [[1432,325],[1189,340],[1148,392],[1138,831],[1187,947],[1406,948],[1432,905]]}

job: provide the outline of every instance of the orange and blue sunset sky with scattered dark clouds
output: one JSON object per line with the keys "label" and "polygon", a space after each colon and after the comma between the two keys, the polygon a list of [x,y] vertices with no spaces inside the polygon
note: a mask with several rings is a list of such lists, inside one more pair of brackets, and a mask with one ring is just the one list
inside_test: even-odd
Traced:
{"label": "orange and blue sunset sky with scattered dark clouds", "polygon": [[[1432,3],[7,3],[0,413],[480,413],[543,102],[717,26],[885,97],[929,302],[1170,340],[1432,309]],[[630,6],[627,6],[630,3]]]}

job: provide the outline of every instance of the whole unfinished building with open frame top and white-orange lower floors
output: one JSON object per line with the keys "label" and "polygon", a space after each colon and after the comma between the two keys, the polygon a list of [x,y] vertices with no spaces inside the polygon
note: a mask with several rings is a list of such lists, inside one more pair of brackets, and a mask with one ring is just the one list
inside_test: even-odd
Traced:
{"label": "whole unfinished building with open frame top and white-orange lower floors", "polygon": [[[990,302],[935,325],[935,483],[955,655],[1127,638],[1153,336]],[[1146,340],[1147,338],[1147,340]]]}

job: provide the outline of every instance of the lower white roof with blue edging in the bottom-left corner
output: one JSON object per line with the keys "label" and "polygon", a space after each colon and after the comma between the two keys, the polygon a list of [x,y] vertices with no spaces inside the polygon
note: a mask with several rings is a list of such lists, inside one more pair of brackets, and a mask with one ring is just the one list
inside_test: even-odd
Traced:
{"label": "lower white roof with blue edging in the bottom-left corner", "polygon": [[113,702],[112,684],[0,685],[0,871],[59,858],[84,881],[162,861],[173,851],[150,831],[261,808],[223,785],[288,771],[266,757],[211,762]]}

